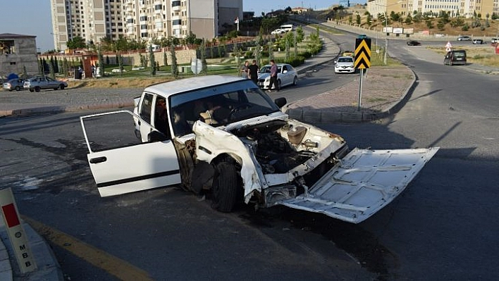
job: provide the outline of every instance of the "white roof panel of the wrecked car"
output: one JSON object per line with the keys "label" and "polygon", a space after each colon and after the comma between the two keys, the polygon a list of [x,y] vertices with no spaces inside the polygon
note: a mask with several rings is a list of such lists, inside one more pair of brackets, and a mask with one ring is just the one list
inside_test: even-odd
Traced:
{"label": "white roof panel of the wrecked car", "polygon": [[211,87],[240,80],[247,79],[229,75],[203,75],[150,85],[144,89],[144,92],[154,92],[167,98],[172,94],[178,94],[180,92],[187,92],[194,89],[202,89],[204,87]]}

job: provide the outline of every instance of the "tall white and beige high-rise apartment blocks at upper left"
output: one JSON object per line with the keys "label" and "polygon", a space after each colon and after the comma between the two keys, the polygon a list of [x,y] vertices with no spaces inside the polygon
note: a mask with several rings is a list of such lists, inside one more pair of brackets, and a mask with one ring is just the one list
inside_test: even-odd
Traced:
{"label": "tall white and beige high-rise apartment blocks at upper left", "polygon": [[76,36],[148,41],[192,32],[211,39],[242,18],[242,0],[51,0],[51,10],[54,46],[63,50]]}

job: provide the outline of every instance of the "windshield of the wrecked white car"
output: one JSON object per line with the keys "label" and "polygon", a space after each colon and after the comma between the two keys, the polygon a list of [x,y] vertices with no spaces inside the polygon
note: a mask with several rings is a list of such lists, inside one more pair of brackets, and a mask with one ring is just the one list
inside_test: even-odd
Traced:
{"label": "windshield of the wrecked white car", "polygon": [[[172,124],[183,122],[190,127],[204,118],[212,119],[210,124],[217,127],[280,111],[251,80],[183,92],[169,99]],[[175,126],[173,131],[175,136],[189,133],[177,130]]]}

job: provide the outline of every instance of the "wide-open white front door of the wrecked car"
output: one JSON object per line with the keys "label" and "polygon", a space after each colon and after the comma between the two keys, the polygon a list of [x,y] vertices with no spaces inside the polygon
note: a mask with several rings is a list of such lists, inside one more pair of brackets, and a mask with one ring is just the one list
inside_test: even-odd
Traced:
{"label": "wide-open white front door of the wrecked car", "polygon": [[[135,136],[134,118],[141,120],[142,126],[148,125],[125,110],[80,117],[90,170],[103,197],[178,185],[181,181],[171,139],[149,125],[156,141],[143,143]],[[157,140],[158,134],[161,140]]]}

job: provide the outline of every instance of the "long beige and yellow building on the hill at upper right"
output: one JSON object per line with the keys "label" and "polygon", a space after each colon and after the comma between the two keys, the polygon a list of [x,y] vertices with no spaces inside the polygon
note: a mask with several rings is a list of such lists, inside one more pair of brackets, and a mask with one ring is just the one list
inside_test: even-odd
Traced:
{"label": "long beige and yellow building on the hill at upper right", "polygon": [[486,18],[493,13],[499,13],[499,0],[371,0],[367,1],[367,11],[374,18],[378,14],[400,13],[402,16],[413,14],[414,11],[420,13],[449,12],[451,16],[457,14],[466,18],[471,18],[474,13],[481,14]]}

